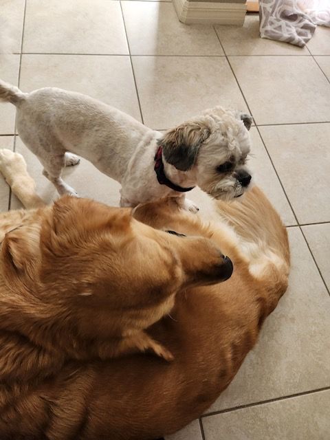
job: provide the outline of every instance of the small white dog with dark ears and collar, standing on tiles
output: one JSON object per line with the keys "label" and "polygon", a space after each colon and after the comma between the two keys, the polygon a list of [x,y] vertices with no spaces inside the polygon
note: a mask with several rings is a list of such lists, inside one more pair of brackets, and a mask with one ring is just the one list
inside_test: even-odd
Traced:
{"label": "small white dog with dark ears and collar, standing on tiles", "polygon": [[221,107],[206,110],[165,134],[89,96],[56,88],[24,94],[0,81],[0,100],[17,107],[17,130],[43,164],[58,192],[76,195],[61,178],[63,166],[78,164],[75,153],[122,185],[121,206],[182,196],[198,185],[216,199],[239,197],[251,175],[250,115]]}

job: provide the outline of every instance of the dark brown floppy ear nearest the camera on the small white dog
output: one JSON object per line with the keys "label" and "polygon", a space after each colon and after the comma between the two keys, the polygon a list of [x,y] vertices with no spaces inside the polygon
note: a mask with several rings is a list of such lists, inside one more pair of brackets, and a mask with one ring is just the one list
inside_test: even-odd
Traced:
{"label": "dark brown floppy ear nearest the camera on the small white dog", "polygon": [[159,139],[164,159],[178,170],[188,171],[195,164],[199,147],[210,136],[211,128],[206,121],[185,122],[167,131]]}

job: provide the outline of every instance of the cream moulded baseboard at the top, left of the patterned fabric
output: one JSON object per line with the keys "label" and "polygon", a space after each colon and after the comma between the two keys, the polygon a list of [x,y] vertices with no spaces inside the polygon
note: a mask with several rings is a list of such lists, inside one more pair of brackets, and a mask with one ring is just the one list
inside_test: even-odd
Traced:
{"label": "cream moulded baseboard at the top, left of the patterned fabric", "polygon": [[173,0],[177,17],[182,23],[205,23],[242,26],[246,14],[245,3],[212,3]]}

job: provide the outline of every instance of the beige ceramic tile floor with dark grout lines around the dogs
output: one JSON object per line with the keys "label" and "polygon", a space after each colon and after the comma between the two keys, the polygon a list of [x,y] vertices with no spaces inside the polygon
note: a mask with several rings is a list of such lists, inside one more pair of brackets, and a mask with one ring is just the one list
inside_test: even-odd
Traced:
{"label": "beige ceramic tile floor with dark grout lines around the dogs", "polygon": [[[288,227],[287,294],[232,384],[170,440],[326,440],[330,432],[330,29],[304,49],[243,28],[183,25],[170,1],[2,0],[11,49],[0,77],[23,90],[57,86],[115,105],[154,129],[206,107],[250,111],[250,168]],[[14,138],[0,106],[0,148],[25,156],[39,193],[53,186]],[[86,161],[65,178],[80,195],[118,204],[119,184]],[[18,208],[0,177],[0,208]],[[210,200],[192,192],[208,216]],[[327,283],[327,285],[325,284]]]}

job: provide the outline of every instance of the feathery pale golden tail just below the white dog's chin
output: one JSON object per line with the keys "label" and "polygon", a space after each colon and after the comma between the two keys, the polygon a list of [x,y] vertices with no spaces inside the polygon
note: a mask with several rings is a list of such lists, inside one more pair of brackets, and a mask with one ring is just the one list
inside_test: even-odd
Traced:
{"label": "feathery pale golden tail just below the white dog's chin", "polygon": [[253,276],[283,294],[289,275],[287,230],[276,210],[256,186],[242,201],[217,201],[217,210],[239,238],[239,250]]}

